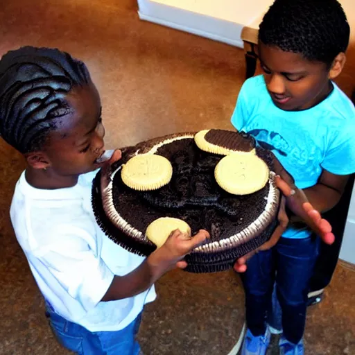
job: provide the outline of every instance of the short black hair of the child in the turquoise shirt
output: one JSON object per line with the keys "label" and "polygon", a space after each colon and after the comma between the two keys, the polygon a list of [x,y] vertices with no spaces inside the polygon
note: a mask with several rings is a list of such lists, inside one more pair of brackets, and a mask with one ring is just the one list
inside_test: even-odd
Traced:
{"label": "short black hair of the child in the turquoise shirt", "polygon": [[259,40],[329,66],[349,44],[350,28],[336,0],[275,0],[259,27]]}

